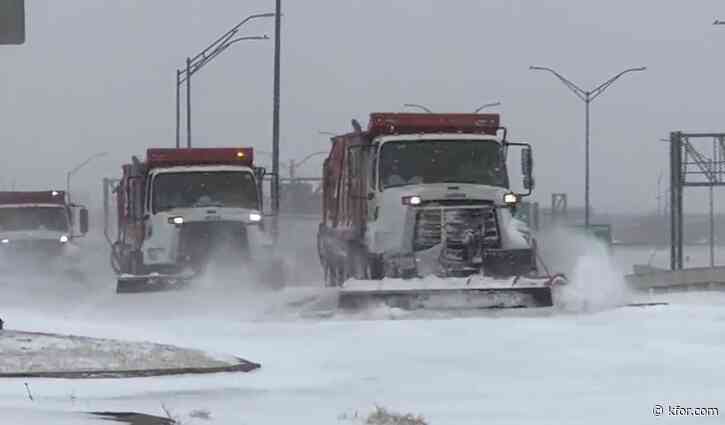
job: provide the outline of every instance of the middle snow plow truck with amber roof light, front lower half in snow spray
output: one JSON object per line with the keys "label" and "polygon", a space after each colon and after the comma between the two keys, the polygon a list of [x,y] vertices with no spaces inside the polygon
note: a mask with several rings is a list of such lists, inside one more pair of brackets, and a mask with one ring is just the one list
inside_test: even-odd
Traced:
{"label": "middle snow plow truck with amber roof light, front lower half in snow spray", "polygon": [[[115,189],[116,292],[186,286],[210,264],[279,287],[281,262],[262,214],[263,168],[251,148],[151,148],[123,165]],[[245,272],[245,270],[247,272]]]}

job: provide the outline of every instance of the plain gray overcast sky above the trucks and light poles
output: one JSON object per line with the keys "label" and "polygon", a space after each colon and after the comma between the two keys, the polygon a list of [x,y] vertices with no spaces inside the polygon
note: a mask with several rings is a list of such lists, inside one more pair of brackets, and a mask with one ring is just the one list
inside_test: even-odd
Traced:
{"label": "plain gray overcast sky above the trucks and light poles", "polygon": [[[174,72],[272,0],[28,0],[27,43],[0,46],[0,184],[74,186],[97,202],[100,179],[149,146],[174,145]],[[444,112],[497,110],[512,139],[534,145],[537,195],[583,203],[584,106],[553,67],[593,88],[630,66],[592,104],[595,209],[656,206],[671,130],[725,131],[725,17],[715,0],[286,0],[281,149],[300,158],[326,149],[318,130],[422,103]],[[245,35],[273,35],[272,20]],[[242,42],[194,76],[195,146],[271,150],[273,41]],[[261,159],[265,159],[260,156]],[[321,158],[300,174],[317,175]],[[704,192],[700,190],[699,192]],[[719,196],[720,198],[725,198]],[[690,210],[704,208],[688,191]],[[722,204],[722,202],[720,202]],[[694,211],[693,210],[693,211]]]}

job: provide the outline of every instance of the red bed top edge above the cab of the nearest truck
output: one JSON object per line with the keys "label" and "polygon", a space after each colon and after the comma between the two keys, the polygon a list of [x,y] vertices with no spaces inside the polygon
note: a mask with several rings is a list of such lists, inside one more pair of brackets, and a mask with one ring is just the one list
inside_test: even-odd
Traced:
{"label": "red bed top edge above the cab of the nearest truck", "polygon": [[368,133],[372,136],[410,133],[484,133],[495,135],[499,114],[421,114],[374,112],[370,114]]}

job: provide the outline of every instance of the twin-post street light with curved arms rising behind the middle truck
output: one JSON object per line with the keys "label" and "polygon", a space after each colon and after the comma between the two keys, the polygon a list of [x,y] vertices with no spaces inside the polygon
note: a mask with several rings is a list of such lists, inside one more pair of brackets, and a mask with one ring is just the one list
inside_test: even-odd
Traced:
{"label": "twin-post street light with curved arms rising behind the middle truck", "polygon": [[215,57],[219,56],[229,46],[248,40],[269,40],[267,35],[263,36],[247,36],[247,37],[236,37],[239,32],[239,28],[251,21],[252,19],[259,18],[271,18],[276,16],[275,13],[258,13],[246,17],[242,22],[237,24],[234,28],[224,33],[221,37],[216,39],[213,43],[207,46],[204,50],[198,53],[193,58],[186,58],[185,70],[176,70],[176,147],[180,147],[181,143],[181,104],[180,104],[180,92],[181,85],[186,83],[186,147],[191,147],[191,76],[197,71],[204,67],[207,63],[212,61]]}

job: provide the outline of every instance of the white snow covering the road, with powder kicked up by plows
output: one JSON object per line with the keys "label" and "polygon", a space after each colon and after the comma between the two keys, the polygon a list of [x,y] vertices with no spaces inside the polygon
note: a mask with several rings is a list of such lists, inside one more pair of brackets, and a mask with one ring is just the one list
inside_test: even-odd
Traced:
{"label": "white snow covering the road, with powder kicked up by plows", "polygon": [[[306,235],[314,240],[315,225],[294,224],[288,249],[297,255],[296,285],[278,293],[245,289],[240,275],[187,291],[116,295],[105,248],[90,239],[85,281],[3,277],[0,317],[9,329],[172,344],[262,368],[6,379],[0,423],[101,424],[108,422],[77,412],[165,416],[165,408],[183,424],[362,424],[376,406],[420,414],[431,425],[723,421],[725,294],[658,295],[670,304],[620,307],[652,300],[621,279],[631,264],[646,264],[651,249],[615,251],[612,263],[601,247],[554,238],[548,248],[556,252],[543,254],[552,263],[567,257],[562,267],[573,279],[556,308],[456,315],[378,308],[328,317],[314,313],[334,293],[320,288],[315,250],[301,245]],[[706,262],[702,252],[697,258]],[[659,257],[666,265],[667,252]],[[719,408],[721,416],[657,417],[658,404],[664,416],[669,406]]]}

